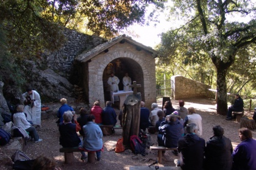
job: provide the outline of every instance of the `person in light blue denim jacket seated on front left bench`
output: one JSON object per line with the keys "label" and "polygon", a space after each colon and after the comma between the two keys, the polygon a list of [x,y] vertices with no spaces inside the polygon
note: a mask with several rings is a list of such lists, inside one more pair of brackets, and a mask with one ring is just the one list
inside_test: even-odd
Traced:
{"label": "person in light blue denim jacket seated on front left bench", "polygon": [[102,143],[102,130],[95,123],[95,116],[89,115],[88,122],[83,127],[85,132],[84,149],[87,151],[96,151],[97,160],[101,160],[101,149],[103,148]]}

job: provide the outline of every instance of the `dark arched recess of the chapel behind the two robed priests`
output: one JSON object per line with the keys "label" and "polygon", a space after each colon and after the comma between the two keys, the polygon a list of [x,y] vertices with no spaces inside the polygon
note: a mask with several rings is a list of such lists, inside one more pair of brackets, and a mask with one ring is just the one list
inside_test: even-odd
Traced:
{"label": "dark arched recess of the chapel behind the two robed priests", "polygon": [[128,73],[132,82],[136,81],[137,84],[141,85],[141,88],[137,88],[137,92],[141,93],[141,100],[144,101],[144,76],[141,66],[131,58],[120,57],[112,60],[112,62],[108,63],[104,69],[102,75],[104,103],[106,101],[111,101],[110,85],[108,85],[107,80],[112,72],[120,80],[118,84],[119,90],[123,90],[123,77]]}

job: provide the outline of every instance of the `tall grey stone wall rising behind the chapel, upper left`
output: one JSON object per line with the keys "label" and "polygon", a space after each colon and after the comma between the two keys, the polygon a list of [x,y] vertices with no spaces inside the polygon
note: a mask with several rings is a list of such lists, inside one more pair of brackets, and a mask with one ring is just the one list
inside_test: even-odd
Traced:
{"label": "tall grey stone wall rising behind the chapel, upper left", "polygon": [[[72,79],[74,74],[74,59],[80,53],[106,42],[104,38],[82,34],[76,30],[64,29],[66,42],[55,52],[43,54],[49,68],[60,76]],[[72,82],[71,82],[72,83]]]}

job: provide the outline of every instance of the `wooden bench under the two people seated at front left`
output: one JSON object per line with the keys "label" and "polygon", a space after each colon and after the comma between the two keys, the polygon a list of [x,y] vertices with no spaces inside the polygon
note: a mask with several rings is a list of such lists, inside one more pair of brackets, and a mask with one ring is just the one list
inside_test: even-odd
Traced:
{"label": "wooden bench under the two people seated at front left", "polygon": [[[65,163],[73,163],[74,161],[74,154],[73,152],[81,152],[78,147],[62,147],[60,148],[60,152],[64,152]],[[90,151],[88,152],[88,162],[94,163],[95,162],[95,152]]]}

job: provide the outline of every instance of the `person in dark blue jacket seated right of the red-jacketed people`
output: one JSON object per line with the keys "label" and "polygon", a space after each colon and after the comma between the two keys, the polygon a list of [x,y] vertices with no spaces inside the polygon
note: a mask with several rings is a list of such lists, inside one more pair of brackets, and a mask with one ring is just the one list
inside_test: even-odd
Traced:
{"label": "person in dark blue jacket seated right of the red-jacketed people", "polygon": [[[104,125],[113,125],[116,126],[116,112],[115,110],[111,107],[112,102],[111,101],[107,101],[106,102],[106,107],[103,108],[102,111],[102,124]],[[115,130],[112,129],[112,133],[115,133]]]}

